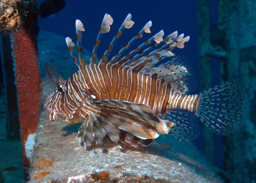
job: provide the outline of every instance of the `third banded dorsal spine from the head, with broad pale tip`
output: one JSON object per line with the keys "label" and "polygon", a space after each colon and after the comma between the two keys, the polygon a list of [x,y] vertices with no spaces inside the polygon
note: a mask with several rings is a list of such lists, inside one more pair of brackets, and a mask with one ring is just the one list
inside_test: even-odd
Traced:
{"label": "third banded dorsal spine from the head, with broad pale tip", "polygon": [[113,23],[113,18],[109,14],[105,14],[99,29],[98,36],[96,38],[96,41],[93,47],[93,52],[90,58],[90,64],[97,64],[97,52],[98,52],[100,40],[102,38],[102,34],[105,34],[110,31],[110,26],[112,25],[112,23]]}

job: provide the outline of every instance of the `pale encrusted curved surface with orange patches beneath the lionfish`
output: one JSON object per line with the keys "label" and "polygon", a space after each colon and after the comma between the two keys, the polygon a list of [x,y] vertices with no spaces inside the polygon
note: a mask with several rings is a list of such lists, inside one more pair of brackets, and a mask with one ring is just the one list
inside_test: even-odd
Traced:
{"label": "pale encrusted curved surface with orange patches beneath the lionfish", "polygon": [[[49,84],[44,83],[48,88]],[[40,117],[30,183],[84,180],[220,182],[213,167],[192,143],[180,143],[171,136],[161,136],[158,141],[165,145],[154,142],[144,149],[120,150],[105,138],[107,154],[98,149],[89,153],[77,141],[81,123],[67,124],[60,118],[50,123],[47,115],[45,112]]]}

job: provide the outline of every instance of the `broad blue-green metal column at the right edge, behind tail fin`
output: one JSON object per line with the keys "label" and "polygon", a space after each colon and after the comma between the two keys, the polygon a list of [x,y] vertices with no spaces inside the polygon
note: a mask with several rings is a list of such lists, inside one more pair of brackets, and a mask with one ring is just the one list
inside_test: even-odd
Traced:
{"label": "broad blue-green metal column at the right edge, behind tail fin", "polygon": [[224,169],[230,182],[256,182],[256,1],[219,0],[221,29],[226,31],[223,80],[240,80],[247,92],[249,120],[241,131],[224,137]]}

